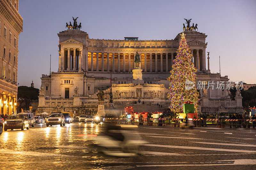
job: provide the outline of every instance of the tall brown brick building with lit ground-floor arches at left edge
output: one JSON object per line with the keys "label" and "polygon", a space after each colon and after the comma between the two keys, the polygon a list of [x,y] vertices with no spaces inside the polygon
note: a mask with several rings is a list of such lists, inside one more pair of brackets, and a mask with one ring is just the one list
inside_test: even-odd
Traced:
{"label": "tall brown brick building with lit ground-floor arches at left edge", "polygon": [[18,42],[23,28],[19,0],[0,0],[0,113],[16,113]]}

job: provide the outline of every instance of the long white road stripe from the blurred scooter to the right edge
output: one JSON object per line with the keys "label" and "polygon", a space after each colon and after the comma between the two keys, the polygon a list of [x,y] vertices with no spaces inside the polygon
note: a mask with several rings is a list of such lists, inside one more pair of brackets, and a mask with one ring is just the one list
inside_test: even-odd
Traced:
{"label": "long white road stripe from the blurred scooter to the right edge", "polygon": [[143,145],[143,146],[155,146],[155,147],[166,147],[166,148],[179,148],[179,149],[196,149],[196,150],[209,150],[209,151],[256,153],[256,151],[238,150],[238,149],[205,148],[205,147],[176,146],[176,145],[155,145],[155,144],[141,144],[141,145]]}

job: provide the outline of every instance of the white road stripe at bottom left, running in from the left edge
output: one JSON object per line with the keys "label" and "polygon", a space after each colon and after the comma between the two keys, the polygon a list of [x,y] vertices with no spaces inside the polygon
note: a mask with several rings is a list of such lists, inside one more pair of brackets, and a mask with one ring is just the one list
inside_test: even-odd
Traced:
{"label": "white road stripe at bottom left, running in from the left edge", "polygon": [[[11,149],[0,149],[1,153],[17,154],[17,155],[29,155],[29,156],[69,156],[56,153],[45,153],[45,152],[31,152],[31,151],[14,151]],[[73,157],[73,156],[71,156]]]}

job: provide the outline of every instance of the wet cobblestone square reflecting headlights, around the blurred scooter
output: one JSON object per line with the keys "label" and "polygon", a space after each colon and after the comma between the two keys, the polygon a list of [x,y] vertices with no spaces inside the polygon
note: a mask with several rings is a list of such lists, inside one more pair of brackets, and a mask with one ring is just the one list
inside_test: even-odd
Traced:
{"label": "wet cobblestone square reflecting headlights, around the blurred scooter", "polygon": [[104,124],[37,124],[0,135],[0,169],[256,169],[256,129],[139,126],[138,156],[109,157],[89,134]]}

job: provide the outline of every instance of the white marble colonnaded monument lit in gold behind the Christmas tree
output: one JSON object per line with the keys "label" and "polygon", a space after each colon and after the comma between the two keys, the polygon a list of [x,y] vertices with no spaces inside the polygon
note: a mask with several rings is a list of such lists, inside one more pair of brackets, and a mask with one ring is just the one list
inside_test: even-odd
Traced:
{"label": "white marble colonnaded monument lit in gold behind the Christmas tree", "polygon": [[[206,69],[207,35],[197,31],[184,33],[194,56],[191,60],[198,69],[197,81],[203,82],[205,88],[208,87],[207,82],[214,83],[213,88],[207,92],[204,90],[198,112],[243,112],[242,99],[232,101],[228,90],[217,89],[218,81],[226,84],[229,79],[228,76],[211,73],[209,57]],[[90,39],[86,32],[80,30],[65,30],[58,36],[58,72],[42,75],[38,111],[65,110],[94,114],[97,112],[98,89],[105,89],[105,108],[108,108],[110,76],[117,110],[123,110],[128,104],[134,107],[134,111],[159,111],[170,105],[167,99],[169,81],[166,78],[177,55],[180,33],[171,40],[138,40],[138,37]],[[140,83],[134,83],[132,77],[136,52],[141,60],[143,81]],[[74,94],[75,89],[78,95]],[[203,94],[203,89],[199,91]],[[142,104],[146,107],[141,107]],[[162,107],[159,108],[159,105]]]}

